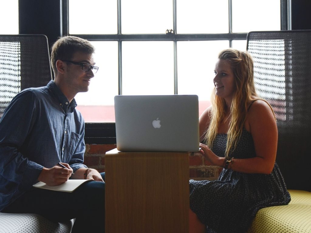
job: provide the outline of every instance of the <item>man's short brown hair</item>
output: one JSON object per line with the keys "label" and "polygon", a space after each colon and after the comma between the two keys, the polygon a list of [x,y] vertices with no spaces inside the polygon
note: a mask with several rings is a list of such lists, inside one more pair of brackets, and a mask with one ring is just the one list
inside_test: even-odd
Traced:
{"label": "man's short brown hair", "polygon": [[51,66],[54,74],[57,73],[56,61],[71,60],[73,54],[76,52],[93,54],[95,52],[95,48],[90,41],[77,36],[60,37],[53,44],[51,49]]}

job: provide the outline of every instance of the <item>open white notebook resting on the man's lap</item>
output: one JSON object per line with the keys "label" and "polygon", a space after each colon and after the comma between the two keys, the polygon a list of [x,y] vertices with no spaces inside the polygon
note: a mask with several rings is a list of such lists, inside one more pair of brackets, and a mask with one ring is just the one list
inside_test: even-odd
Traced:
{"label": "open white notebook resting on the man's lap", "polygon": [[32,185],[35,188],[39,189],[49,189],[54,191],[61,191],[61,192],[73,192],[77,189],[81,184],[84,182],[91,181],[91,179],[68,179],[65,183],[56,185],[56,186],[49,186],[41,181]]}

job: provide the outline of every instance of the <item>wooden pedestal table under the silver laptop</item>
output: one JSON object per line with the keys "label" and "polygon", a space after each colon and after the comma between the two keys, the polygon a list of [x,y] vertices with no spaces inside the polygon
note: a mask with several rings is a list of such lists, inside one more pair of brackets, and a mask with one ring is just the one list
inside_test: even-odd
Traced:
{"label": "wooden pedestal table under the silver laptop", "polygon": [[105,155],[106,233],[188,233],[189,154]]}

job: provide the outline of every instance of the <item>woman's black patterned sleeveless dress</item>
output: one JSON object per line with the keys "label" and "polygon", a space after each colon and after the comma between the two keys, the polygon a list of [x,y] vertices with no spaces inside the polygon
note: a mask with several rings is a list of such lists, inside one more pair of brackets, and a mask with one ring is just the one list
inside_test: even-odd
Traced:
{"label": "woman's black patterned sleeveless dress", "polygon": [[[224,157],[226,143],[227,134],[218,134],[213,152]],[[245,129],[230,157],[255,157],[253,137]],[[190,180],[189,184],[190,208],[207,225],[207,232],[245,232],[259,209],[290,202],[277,164],[270,175],[223,169],[218,180]]]}

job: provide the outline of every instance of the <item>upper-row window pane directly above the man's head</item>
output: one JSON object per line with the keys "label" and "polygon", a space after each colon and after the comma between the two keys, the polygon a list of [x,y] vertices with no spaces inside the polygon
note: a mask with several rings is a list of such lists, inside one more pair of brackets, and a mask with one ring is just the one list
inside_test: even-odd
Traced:
{"label": "upper-row window pane directly above the man's head", "polygon": [[118,33],[117,1],[69,0],[68,5],[69,34]]}

